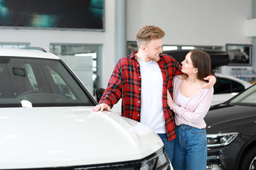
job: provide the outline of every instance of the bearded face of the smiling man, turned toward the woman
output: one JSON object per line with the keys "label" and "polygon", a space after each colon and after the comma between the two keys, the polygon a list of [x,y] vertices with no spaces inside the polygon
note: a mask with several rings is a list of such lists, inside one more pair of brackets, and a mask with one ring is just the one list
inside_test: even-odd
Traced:
{"label": "bearded face of the smiling man, turned toward the woman", "polygon": [[144,54],[148,57],[149,60],[158,62],[160,60],[159,54],[163,52],[163,40],[154,39],[150,40],[147,45],[144,47]]}

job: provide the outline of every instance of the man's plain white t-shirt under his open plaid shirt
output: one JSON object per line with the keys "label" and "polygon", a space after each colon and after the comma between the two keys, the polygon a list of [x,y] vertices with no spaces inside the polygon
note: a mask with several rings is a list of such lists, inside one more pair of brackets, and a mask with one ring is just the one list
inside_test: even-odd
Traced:
{"label": "man's plain white t-shirt under his open plaid shirt", "polygon": [[142,62],[137,59],[142,76],[141,123],[156,133],[166,133],[163,111],[163,76],[155,61]]}

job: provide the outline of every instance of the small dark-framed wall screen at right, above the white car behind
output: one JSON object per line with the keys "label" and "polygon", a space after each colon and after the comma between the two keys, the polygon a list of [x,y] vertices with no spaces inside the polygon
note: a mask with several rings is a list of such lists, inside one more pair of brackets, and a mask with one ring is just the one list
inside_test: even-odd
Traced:
{"label": "small dark-framed wall screen at right, above the white car behind", "polygon": [[226,44],[226,51],[230,57],[228,65],[252,65],[252,45]]}

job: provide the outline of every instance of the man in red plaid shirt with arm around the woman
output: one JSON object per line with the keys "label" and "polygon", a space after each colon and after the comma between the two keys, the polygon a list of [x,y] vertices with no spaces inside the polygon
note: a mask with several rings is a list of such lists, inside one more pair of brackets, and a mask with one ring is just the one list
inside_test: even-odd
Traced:
{"label": "man in red plaid shirt with arm around the woman", "polygon": [[[138,52],[123,57],[105,89],[99,105],[92,111],[111,111],[122,98],[122,115],[137,120],[154,130],[172,160],[174,151],[174,115],[167,106],[167,90],[173,91],[172,80],[182,74],[181,65],[173,57],[161,54],[164,31],[156,26],[144,26],[137,33]],[[215,77],[208,76],[209,88]]]}

